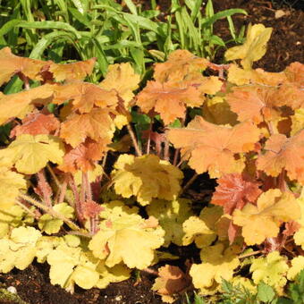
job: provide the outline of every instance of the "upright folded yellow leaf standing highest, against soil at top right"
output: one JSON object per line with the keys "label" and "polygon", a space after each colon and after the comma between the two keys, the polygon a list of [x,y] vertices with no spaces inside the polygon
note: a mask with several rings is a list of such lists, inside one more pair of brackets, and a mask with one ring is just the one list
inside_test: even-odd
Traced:
{"label": "upright folded yellow leaf standing highest, against soil at top right", "polygon": [[233,46],[225,52],[225,59],[241,59],[244,69],[250,70],[252,63],[262,58],[266,53],[266,43],[269,40],[272,28],[266,28],[263,24],[249,24],[245,43],[241,46]]}

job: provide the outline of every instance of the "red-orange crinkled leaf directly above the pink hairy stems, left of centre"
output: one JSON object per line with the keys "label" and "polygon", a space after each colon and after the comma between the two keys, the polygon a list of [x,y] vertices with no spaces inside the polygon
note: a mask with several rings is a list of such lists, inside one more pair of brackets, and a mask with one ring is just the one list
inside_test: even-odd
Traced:
{"label": "red-orange crinkled leaf directly above the pink hairy stems, left of centre", "polygon": [[77,170],[87,172],[95,168],[97,160],[100,160],[107,147],[105,142],[96,142],[87,139],[76,148],[69,146],[65,149],[63,164],[58,169],[66,173],[75,173]]}

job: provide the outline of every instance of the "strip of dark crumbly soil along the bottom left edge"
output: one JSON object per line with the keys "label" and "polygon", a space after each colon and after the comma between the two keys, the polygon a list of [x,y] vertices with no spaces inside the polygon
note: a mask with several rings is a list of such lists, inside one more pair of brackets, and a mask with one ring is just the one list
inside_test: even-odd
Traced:
{"label": "strip of dark crumbly soil along the bottom left edge", "polygon": [[[112,283],[105,290],[89,291],[76,288],[74,294],[49,283],[49,266],[33,263],[27,269],[14,269],[10,274],[0,274],[4,287],[14,286],[22,300],[29,304],[160,304],[160,297],[151,291],[153,276],[141,273],[139,280],[131,278],[122,283]],[[0,300],[0,304],[15,304]],[[16,303],[17,304],[17,303]]]}

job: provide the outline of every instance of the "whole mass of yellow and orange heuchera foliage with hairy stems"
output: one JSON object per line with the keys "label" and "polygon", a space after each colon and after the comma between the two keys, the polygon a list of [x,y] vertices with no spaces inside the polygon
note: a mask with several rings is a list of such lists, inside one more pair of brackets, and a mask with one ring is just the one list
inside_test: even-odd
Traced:
{"label": "whole mass of yellow and orange heuchera foliage with hairy stems", "polygon": [[[137,95],[129,63],[92,84],[83,80],[94,58],[58,64],[0,50],[0,85],[24,83],[0,93],[0,123],[11,128],[0,150],[0,271],[37,258],[68,291],[105,288],[173,258],[170,243],[194,242],[200,264],[159,269],[163,300],[192,284],[211,296],[223,279],[283,295],[304,267],[304,67],[252,69],[270,35],[249,27],[225,55],[241,65],[177,50]],[[186,165],[195,174],[182,188]],[[183,194],[201,173],[218,186],[197,215]]]}

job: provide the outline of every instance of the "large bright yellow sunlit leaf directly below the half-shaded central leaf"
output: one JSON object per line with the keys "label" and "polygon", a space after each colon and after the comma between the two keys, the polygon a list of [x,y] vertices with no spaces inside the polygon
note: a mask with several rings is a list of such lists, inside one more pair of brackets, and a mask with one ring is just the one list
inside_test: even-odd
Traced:
{"label": "large bright yellow sunlit leaf directly below the half-shaded central leaf", "polygon": [[[117,205],[116,202],[116,212],[109,213],[99,224],[100,230],[89,242],[89,249],[96,258],[105,258],[106,266],[123,262],[130,268],[144,269],[152,263],[154,250],[164,243],[165,232],[159,226],[150,227],[147,220],[131,213],[130,209],[129,213],[124,212],[128,207],[122,207],[122,203],[121,207]],[[101,213],[101,216],[105,214]]]}

